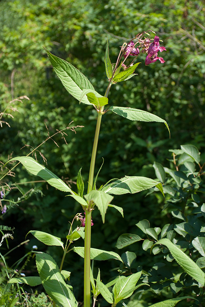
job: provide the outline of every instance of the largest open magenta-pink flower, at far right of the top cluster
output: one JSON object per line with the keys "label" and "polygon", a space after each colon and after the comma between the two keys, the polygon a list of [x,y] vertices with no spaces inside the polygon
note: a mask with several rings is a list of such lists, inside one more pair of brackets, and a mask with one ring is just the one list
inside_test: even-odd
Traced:
{"label": "largest open magenta-pink flower, at far right of the top cluster", "polygon": [[164,46],[160,47],[159,44],[160,38],[155,36],[154,41],[150,44],[147,52],[147,57],[145,59],[145,65],[149,65],[150,63],[156,62],[156,60],[160,60],[161,63],[164,63],[165,60],[162,57],[158,56],[158,51],[166,51]]}

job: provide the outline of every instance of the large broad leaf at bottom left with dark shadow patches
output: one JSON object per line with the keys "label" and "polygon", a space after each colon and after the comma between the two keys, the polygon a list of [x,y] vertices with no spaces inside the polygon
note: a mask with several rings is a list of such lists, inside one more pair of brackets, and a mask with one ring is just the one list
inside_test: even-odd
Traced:
{"label": "large broad leaf at bottom left with dark shadow patches", "polygon": [[36,266],[48,295],[60,306],[77,307],[77,301],[66,285],[55,260],[48,254],[36,254]]}

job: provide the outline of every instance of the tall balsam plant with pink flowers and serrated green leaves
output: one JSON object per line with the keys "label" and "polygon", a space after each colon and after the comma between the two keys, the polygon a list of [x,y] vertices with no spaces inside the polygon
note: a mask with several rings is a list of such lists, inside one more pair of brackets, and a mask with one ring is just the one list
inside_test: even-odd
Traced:
{"label": "tall balsam plant with pink flowers and serrated green leaves", "polygon": [[[124,176],[123,178],[117,180],[109,180],[105,185],[97,188],[97,177],[100,171],[99,170],[94,180],[94,168],[101,119],[102,116],[105,115],[107,112],[113,112],[117,115],[120,115],[133,121],[164,122],[164,124],[168,128],[167,122],[164,119],[158,117],[157,115],[153,115],[147,111],[139,109],[134,109],[130,107],[117,107],[108,104],[108,93],[112,84],[126,81],[136,75],[135,70],[140,63],[134,64],[134,61],[141,53],[147,54],[147,57],[145,59],[146,65],[155,62],[157,59],[159,59],[161,63],[165,62],[162,58],[159,58],[157,56],[158,51],[161,52],[163,50],[166,50],[165,47],[160,47],[159,37],[155,36],[153,40],[148,38],[148,36],[148,33],[143,32],[132,38],[128,42],[128,44],[124,43],[120,49],[115,64],[112,64],[110,61],[107,42],[104,63],[106,75],[108,78],[108,86],[104,96],[95,91],[90,81],[72,64],[66,62],[63,59],[60,59],[59,57],[53,55],[47,49],[45,49],[49,56],[49,60],[53,65],[54,71],[60,78],[66,90],[71,95],[73,95],[73,97],[75,97],[80,103],[92,105],[97,112],[97,124],[90,162],[88,189],[86,194],[84,194],[84,182],[81,177],[81,169],[79,170],[77,175],[77,191],[73,191],[68,185],[65,184],[64,181],[58,178],[54,173],[49,171],[43,165],[39,164],[36,160],[29,157],[29,155],[26,157],[15,157],[8,161],[21,162],[28,172],[41,177],[53,187],[65,193],[69,193],[68,196],[73,197],[78,203],[80,203],[85,213],[85,216],[79,213],[76,214],[75,217],[77,218],[77,220],[80,220],[81,225],[79,225],[79,227],[77,227],[77,229],[73,231],[73,222],[71,223],[69,234],[66,236],[67,241],[65,246],[60,238],[57,238],[51,234],[47,234],[41,231],[30,231],[30,233],[41,242],[47,245],[61,246],[63,248],[64,254],[60,268],[58,268],[56,262],[50,255],[35,251],[36,265],[39,277],[24,277],[23,279],[22,277],[12,277],[12,279],[10,279],[10,282],[25,282],[30,286],[35,286],[37,284],[42,283],[46,292],[53,299],[53,306],[55,306],[56,303],[60,306],[77,306],[77,301],[73,295],[72,287],[68,286],[64,281],[64,279],[69,278],[70,272],[62,270],[65,255],[71,250],[84,258],[84,307],[89,307],[91,304],[90,283],[93,289],[93,306],[95,305],[96,298],[100,293],[104,297],[104,299],[108,301],[108,303],[110,303],[112,306],[116,306],[119,301],[131,296],[132,293],[139,286],[144,285],[144,283],[136,285],[142,272],[131,274],[128,277],[119,276],[112,282],[109,282],[108,284],[103,284],[100,279],[99,271],[95,283],[92,271],[90,269],[90,259],[106,260],[114,258],[116,260],[119,260],[120,262],[123,261],[120,256],[114,252],[91,248],[90,242],[91,226],[93,224],[91,215],[92,211],[96,207],[101,213],[103,223],[105,222],[105,214],[108,206],[118,210],[123,215],[122,208],[111,204],[111,202],[113,201],[112,195],[137,193],[149,188],[156,187],[162,192],[164,196],[162,183],[147,177]],[[128,58],[130,58],[130,55],[134,56],[134,58],[131,63],[127,63]],[[127,65],[125,64],[125,61]],[[69,250],[71,243],[81,237],[85,240],[85,246],[73,247]],[[113,286],[112,293],[108,289],[111,286]],[[168,300],[166,301],[166,304],[169,304],[169,306],[175,306],[175,304],[183,298],[184,297],[180,297],[175,299],[174,301]]]}

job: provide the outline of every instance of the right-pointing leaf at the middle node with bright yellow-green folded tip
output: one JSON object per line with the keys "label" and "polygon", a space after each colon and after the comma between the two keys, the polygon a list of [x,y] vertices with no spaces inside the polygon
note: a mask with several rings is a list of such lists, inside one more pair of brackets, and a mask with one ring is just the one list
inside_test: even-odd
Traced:
{"label": "right-pointing leaf at the middle node with bright yellow-green folded tip", "polygon": [[126,194],[126,193],[137,193],[140,191],[147,190],[149,188],[152,188],[156,186],[162,192],[162,184],[160,182],[154,181],[153,179],[147,178],[147,177],[139,177],[139,176],[125,176],[121,179],[118,179],[108,185],[106,185],[104,188],[102,188],[102,191],[109,194]]}

